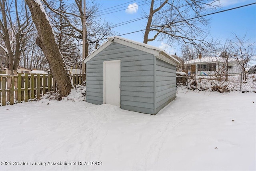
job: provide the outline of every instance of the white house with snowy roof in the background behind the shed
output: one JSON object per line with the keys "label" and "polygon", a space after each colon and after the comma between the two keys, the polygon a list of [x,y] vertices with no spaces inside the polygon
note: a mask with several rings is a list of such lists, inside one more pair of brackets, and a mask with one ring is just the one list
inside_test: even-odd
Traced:
{"label": "white house with snowy roof in the background behind the shed", "polygon": [[205,57],[189,60],[184,63],[186,72],[202,75],[213,75],[213,74],[226,74],[226,67],[228,68],[228,74],[234,74],[242,72],[242,67],[238,64],[236,59],[221,57]]}

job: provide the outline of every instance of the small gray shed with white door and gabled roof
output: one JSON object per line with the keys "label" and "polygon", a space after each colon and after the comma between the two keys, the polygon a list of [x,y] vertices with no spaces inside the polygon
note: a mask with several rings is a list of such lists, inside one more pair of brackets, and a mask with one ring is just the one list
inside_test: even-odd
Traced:
{"label": "small gray shed with white door and gabled roof", "polygon": [[156,114],[176,97],[180,62],[154,46],[110,37],[84,63],[89,103]]}

